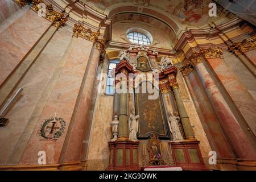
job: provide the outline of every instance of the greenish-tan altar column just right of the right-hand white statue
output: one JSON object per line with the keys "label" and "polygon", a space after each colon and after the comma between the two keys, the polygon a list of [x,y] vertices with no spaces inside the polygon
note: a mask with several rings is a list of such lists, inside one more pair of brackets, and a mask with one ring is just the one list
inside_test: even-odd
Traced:
{"label": "greenish-tan altar column just right of the right-hand white statue", "polygon": [[195,139],[195,134],[193,132],[193,129],[191,127],[191,123],[188,118],[187,111],[185,110],[185,106],[183,104],[183,100],[180,96],[179,87],[177,86],[177,83],[171,84],[172,90],[174,90],[174,97],[177,104],[177,109],[180,114],[180,120],[183,126],[183,130],[185,133],[185,139]]}

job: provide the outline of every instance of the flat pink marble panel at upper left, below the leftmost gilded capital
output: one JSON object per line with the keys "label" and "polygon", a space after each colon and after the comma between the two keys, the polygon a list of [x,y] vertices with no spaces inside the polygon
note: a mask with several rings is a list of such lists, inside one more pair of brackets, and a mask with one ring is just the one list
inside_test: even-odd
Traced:
{"label": "flat pink marble panel at upper left, below the leftmost gilded capital", "polygon": [[0,86],[51,25],[32,10],[0,34]]}

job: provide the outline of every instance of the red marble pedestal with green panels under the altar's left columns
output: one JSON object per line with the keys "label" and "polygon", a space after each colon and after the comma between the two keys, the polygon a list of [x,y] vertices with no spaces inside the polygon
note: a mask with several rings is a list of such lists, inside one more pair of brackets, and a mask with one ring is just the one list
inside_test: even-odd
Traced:
{"label": "red marble pedestal with green panels under the altar's left columns", "polygon": [[109,142],[110,155],[107,171],[139,171],[139,142],[114,141]]}

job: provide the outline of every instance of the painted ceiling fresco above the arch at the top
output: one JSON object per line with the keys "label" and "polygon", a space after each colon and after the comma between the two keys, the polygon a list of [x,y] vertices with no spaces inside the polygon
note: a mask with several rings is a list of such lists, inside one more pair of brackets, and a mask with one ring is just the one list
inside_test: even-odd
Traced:
{"label": "painted ceiling fresco above the arch at the top", "polygon": [[114,6],[144,6],[158,9],[172,18],[178,20],[181,24],[187,26],[201,26],[209,20],[209,3],[211,0],[80,0],[83,3],[91,5],[98,10],[106,12]]}

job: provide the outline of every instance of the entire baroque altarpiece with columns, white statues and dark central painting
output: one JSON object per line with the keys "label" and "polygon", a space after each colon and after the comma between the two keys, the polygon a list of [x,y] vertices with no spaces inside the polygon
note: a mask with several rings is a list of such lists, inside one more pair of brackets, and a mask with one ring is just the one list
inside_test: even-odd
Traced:
{"label": "entire baroque altarpiece with columns, white statues and dark central painting", "polygon": [[[145,46],[121,51],[123,59],[115,68],[116,92],[113,107],[113,115],[118,115],[119,118],[118,138],[109,142],[109,170],[140,169],[139,145],[143,153],[143,167],[206,169],[199,149],[200,142],[195,138],[181,100],[176,80],[177,68],[167,57],[162,58],[158,65],[157,57],[158,52]],[[123,74],[122,78],[118,77],[120,73]],[[122,87],[122,92],[117,92],[117,86]],[[147,92],[143,90],[145,88]],[[135,140],[130,138],[133,130],[130,113],[137,115],[134,121],[138,119]],[[140,143],[140,140],[144,140],[144,143]],[[171,148],[172,156],[166,162],[163,159],[161,140],[168,140]]]}

